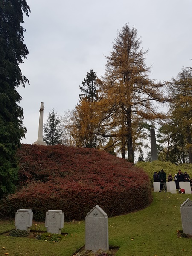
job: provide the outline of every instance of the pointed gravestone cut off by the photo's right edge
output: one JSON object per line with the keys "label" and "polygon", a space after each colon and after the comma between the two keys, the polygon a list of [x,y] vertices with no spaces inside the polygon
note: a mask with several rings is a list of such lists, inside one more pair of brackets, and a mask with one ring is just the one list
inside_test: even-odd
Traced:
{"label": "pointed gravestone cut off by the photo's right edge", "polygon": [[192,201],[188,198],[180,206],[183,233],[192,235]]}

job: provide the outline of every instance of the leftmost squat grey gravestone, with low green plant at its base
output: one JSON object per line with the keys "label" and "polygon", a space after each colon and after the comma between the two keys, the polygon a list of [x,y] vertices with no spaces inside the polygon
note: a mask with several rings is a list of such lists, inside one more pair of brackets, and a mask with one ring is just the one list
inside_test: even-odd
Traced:
{"label": "leftmost squat grey gravestone, with low green plant at its base", "polygon": [[28,231],[32,226],[33,212],[31,210],[20,209],[15,213],[15,226],[17,230]]}

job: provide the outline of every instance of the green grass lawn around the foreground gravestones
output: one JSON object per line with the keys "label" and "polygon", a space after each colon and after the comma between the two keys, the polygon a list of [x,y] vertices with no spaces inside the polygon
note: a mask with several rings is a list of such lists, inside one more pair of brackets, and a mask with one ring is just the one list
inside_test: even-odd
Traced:
{"label": "green grass lawn around the foreground gravestones", "polygon": [[[119,247],[116,256],[191,256],[192,239],[178,238],[177,230],[182,229],[180,205],[192,195],[153,192],[153,198],[144,210],[109,218],[109,245]],[[0,256],[72,256],[85,243],[85,221],[64,223],[68,235],[58,243],[2,234],[14,224],[0,220]]]}

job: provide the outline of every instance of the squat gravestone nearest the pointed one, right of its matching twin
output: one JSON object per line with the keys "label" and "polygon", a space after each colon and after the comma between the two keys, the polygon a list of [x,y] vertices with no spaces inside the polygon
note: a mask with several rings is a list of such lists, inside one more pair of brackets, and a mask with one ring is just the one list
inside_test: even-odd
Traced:
{"label": "squat gravestone nearest the pointed one, right of its matching twin", "polygon": [[57,210],[49,210],[46,212],[45,227],[47,232],[52,234],[61,234],[64,226],[64,213]]}

